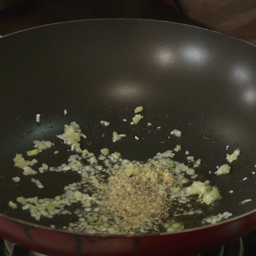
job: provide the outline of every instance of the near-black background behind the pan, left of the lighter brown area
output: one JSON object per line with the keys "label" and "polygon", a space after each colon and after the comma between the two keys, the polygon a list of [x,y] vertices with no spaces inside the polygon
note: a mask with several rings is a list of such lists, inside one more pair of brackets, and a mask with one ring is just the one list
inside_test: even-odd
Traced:
{"label": "near-black background behind the pan, left of the lighter brown area", "polygon": [[20,0],[2,10],[0,1],[2,36],[55,22],[102,18],[167,20],[202,27],[159,0]]}

